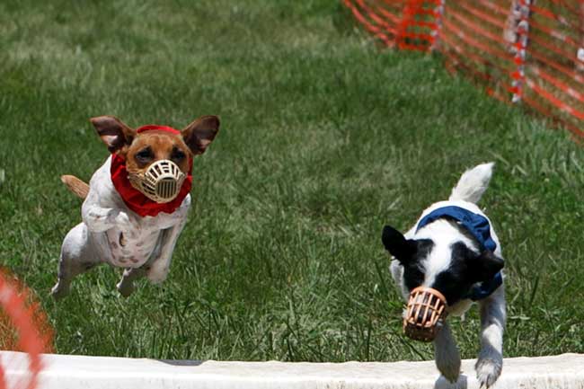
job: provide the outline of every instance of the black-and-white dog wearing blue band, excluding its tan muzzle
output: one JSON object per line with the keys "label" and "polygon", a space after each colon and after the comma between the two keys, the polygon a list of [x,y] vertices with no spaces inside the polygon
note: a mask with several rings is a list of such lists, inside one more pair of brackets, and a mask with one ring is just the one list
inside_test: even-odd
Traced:
{"label": "black-and-white dog wearing blue band, excluding its tan muzzle", "polygon": [[[491,221],[476,203],[491,181],[493,164],[466,171],[447,201],[424,210],[405,234],[386,225],[385,249],[394,256],[391,272],[407,300],[415,287],[438,290],[447,314],[462,315],[473,304],[481,309],[481,351],[475,369],[482,386],[500,376],[505,327],[503,259]],[[447,323],[434,341],[436,366],[450,382],[460,373],[460,354]]]}

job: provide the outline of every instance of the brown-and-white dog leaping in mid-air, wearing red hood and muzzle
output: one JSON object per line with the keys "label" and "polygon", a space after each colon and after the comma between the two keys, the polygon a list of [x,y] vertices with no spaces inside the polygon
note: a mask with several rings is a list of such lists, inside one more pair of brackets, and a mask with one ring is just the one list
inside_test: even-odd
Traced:
{"label": "brown-and-white dog leaping in mid-air, wearing red hood and muzzle", "polygon": [[83,223],[66,234],[51,294],[66,296],[71,280],[95,265],[124,268],[122,296],[146,276],[164,281],[174,245],[190,208],[192,158],[205,152],[219,129],[216,116],[203,116],[178,131],[165,126],[130,128],[112,116],[91,119],[111,156],[89,185],[61,179],[79,197]]}

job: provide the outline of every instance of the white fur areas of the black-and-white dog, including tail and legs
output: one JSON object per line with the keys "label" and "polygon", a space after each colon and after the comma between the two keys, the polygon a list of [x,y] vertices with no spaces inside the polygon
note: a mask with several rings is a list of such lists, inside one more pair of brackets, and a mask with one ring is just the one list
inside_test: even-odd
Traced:
{"label": "white fur areas of the black-and-white dog, including tail and legs", "polygon": [[[404,234],[406,239],[432,239],[435,247],[430,252],[429,257],[423,262],[425,269],[424,286],[432,285],[439,272],[447,270],[451,258],[450,245],[455,242],[465,243],[471,250],[477,251],[474,243],[465,235],[460,234],[451,222],[437,220],[429,225],[420,228],[416,232],[416,226],[421,218],[428,215],[437,208],[456,206],[468,209],[469,211],[486,217],[482,210],[476,206],[482,194],[487,189],[491,181],[492,168],[494,164],[480,164],[473,169],[464,172],[452,190],[452,194],[447,201],[439,201],[425,209],[418,221],[411,229]],[[488,219],[488,217],[487,217]],[[491,238],[497,244],[495,255],[502,257],[500,242],[497,234],[492,228]],[[396,285],[400,288],[404,299],[408,299],[409,290],[403,282],[403,267],[399,261],[394,260],[391,264],[391,272]],[[449,314],[462,315],[473,305],[469,299],[460,301],[456,305],[448,306]],[[481,309],[481,350],[475,366],[477,378],[484,387],[493,385],[500,376],[503,366],[502,348],[503,331],[505,328],[505,291],[501,285],[495,292],[479,302]],[[456,348],[456,341],[450,333],[447,323],[438,332],[434,340],[436,366],[440,373],[451,382],[456,382],[460,372],[460,355]]]}

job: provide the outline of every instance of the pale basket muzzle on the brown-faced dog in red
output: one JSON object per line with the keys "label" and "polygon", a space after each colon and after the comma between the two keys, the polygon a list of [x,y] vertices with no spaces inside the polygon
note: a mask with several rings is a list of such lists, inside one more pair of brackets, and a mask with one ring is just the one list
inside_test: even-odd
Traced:
{"label": "pale basket muzzle on the brown-faced dog in red", "polygon": [[173,161],[162,159],[148,166],[146,172],[128,174],[128,180],[148,199],[163,204],[178,196],[186,176]]}

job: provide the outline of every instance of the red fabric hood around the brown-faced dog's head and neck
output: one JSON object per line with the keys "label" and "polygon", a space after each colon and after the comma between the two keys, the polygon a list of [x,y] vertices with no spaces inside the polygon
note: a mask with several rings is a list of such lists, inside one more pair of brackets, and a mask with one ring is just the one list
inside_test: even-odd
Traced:
{"label": "red fabric hood around the brown-faced dog's head and neck", "polygon": [[[137,133],[156,130],[166,131],[175,135],[181,134],[181,131],[167,126],[148,125],[137,129]],[[189,173],[182,183],[181,191],[175,199],[167,203],[157,203],[152,199],[148,199],[141,191],[132,186],[128,180],[128,171],[126,170],[126,160],[118,154],[111,155],[111,182],[118,190],[119,196],[124,200],[124,203],[136,212],[140,217],[155,217],[160,212],[172,214],[176,208],[181,207],[182,200],[187,197],[192,186],[192,163],[190,163]]]}

